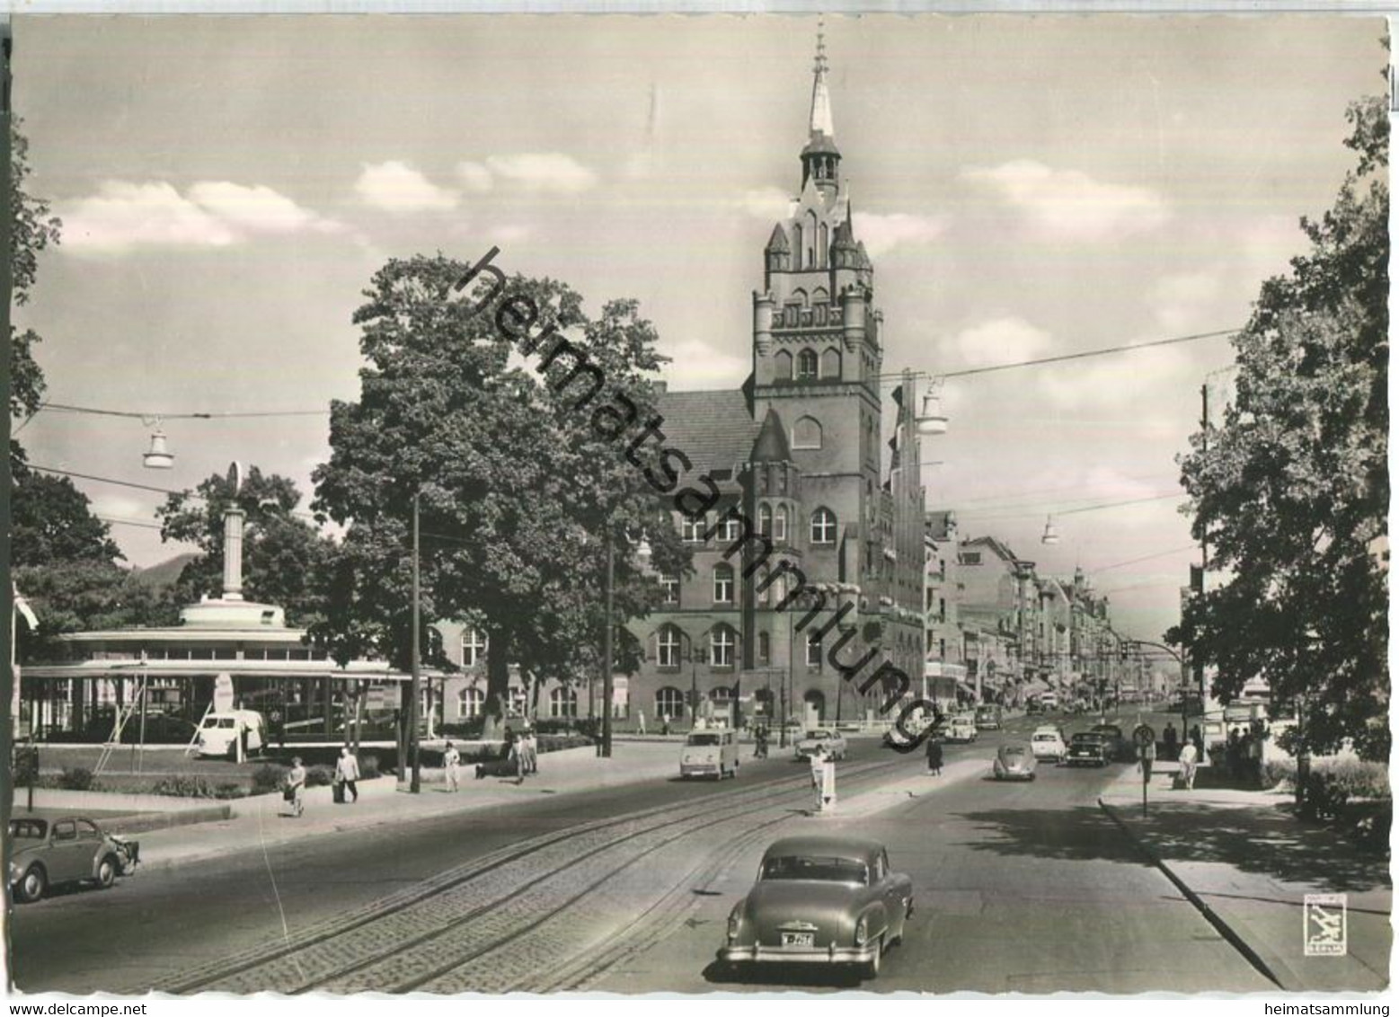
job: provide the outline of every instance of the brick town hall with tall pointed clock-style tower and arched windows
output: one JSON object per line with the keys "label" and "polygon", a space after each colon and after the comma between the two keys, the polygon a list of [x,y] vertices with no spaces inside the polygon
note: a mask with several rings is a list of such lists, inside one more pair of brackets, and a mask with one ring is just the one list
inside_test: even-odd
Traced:
{"label": "brick town hall with tall pointed clock-style tower and arched windows", "polygon": [[[709,526],[676,513],[694,572],[659,576],[663,606],[631,624],[645,646],[627,681],[631,725],[638,711],[652,730],[665,716],[683,725],[693,715],[886,719],[886,688],[898,690],[880,678],[860,691],[883,662],[908,676],[905,698],[921,691],[918,431],[930,421],[915,418],[912,376],[883,374],[874,266],[841,180],[820,43],[800,162],[800,196],[772,228],[753,294],[753,374],[740,389],[659,394],[670,442],[718,481],[723,501]],[[719,520],[736,504],[774,546],[750,578],[740,554],[725,554],[739,525]],[[793,575],[782,561],[824,600],[804,625],[807,606],[776,610]],[[781,575],[764,588],[769,569]],[[866,663],[842,680],[832,656]]]}

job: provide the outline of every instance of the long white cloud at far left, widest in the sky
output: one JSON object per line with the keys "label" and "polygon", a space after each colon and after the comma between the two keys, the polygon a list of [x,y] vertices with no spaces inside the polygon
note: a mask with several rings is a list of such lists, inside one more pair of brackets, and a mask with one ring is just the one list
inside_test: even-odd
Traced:
{"label": "long white cloud at far left, widest in the sky", "polygon": [[104,180],[98,193],[64,203],[63,250],[120,255],[140,246],[227,248],[257,235],[343,227],[262,185],[200,180],[185,194],[165,180]]}

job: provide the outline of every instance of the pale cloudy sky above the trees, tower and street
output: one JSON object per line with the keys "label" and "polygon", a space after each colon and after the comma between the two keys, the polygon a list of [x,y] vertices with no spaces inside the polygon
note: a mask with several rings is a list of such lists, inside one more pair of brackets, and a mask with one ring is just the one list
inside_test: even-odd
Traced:
{"label": "pale cloudy sky above the trees, tower and street", "polygon": [[[835,133],[876,262],[886,368],[933,375],[1231,329],[1304,249],[1384,87],[1374,18],[828,18]],[[748,372],[762,245],[800,183],[813,17],[15,18],[32,190],[63,218],[22,322],[56,403],[323,411],[390,256],[476,259],[635,297],[673,387]],[[1227,339],[946,382],[932,508],[1119,628],[1177,616],[1175,455]],[[1227,381],[1227,375],[1213,375]],[[34,462],[185,487],[232,459],[309,494],[326,417],[55,411]],[[129,561],[180,548],[154,492],[83,481]],[[1114,508],[1074,511],[1115,502]],[[1048,513],[1062,543],[1042,546]]]}

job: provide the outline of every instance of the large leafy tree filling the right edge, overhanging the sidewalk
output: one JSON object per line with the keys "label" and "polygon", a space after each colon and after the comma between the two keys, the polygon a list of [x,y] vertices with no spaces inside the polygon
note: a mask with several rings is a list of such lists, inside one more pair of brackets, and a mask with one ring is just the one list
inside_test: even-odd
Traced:
{"label": "large leafy tree filling the right edge, overhanging the sidewalk", "polygon": [[1263,284],[1234,340],[1234,404],[1181,459],[1195,536],[1227,581],[1167,638],[1219,669],[1226,701],[1262,676],[1297,704],[1294,750],[1350,737],[1385,758],[1389,120],[1381,98],[1347,119],[1358,165],[1302,220],[1311,250]]}

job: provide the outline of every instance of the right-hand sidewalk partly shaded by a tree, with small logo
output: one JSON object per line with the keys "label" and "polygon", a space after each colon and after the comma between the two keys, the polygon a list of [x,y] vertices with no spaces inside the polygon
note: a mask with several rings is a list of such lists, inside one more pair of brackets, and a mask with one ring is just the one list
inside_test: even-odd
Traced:
{"label": "right-hand sidewalk partly shaded by a tree, with small logo", "polygon": [[[1102,795],[1130,835],[1156,855],[1273,971],[1283,988],[1374,992],[1389,985],[1388,862],[1325,825],[1293,818],[1287,792],[1172,790],[1132,767]],[[1346,953],[1308,957],[1304,898],[1346,894]]]}

